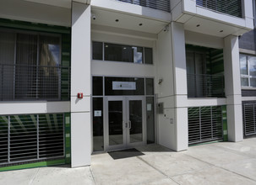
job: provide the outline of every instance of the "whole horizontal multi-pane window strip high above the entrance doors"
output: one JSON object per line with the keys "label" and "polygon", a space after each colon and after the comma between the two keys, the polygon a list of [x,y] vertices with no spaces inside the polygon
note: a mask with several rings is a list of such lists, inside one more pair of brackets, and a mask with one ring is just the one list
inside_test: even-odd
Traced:
{"label": "whole horizontal multi-pane window strip high above the entrance doors", "polygon": [[111,43],[93,42],[92,50],[93,60],[122,61],[136,64],[153,64],[152,48],[144,48],[133,45],[117,45]]}

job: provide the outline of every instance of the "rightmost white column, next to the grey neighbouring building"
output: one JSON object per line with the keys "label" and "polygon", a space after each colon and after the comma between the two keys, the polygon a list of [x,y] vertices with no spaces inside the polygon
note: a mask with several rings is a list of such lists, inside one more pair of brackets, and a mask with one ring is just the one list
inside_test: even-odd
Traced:
{"label": "rightmost white column, next to the grey neighbouring building", "polygon": [[224,71],[228,140],[240,141],[242,136],[242,96],[238,37],[224,39]]}

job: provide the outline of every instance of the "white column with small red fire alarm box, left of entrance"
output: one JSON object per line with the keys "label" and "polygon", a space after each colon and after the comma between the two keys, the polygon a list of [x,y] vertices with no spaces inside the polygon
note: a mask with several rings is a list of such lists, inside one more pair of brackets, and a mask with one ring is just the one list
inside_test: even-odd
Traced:
{"label": "white column with small red fire alarm box, left of entrance", "polygon": [[[90,165],[90,5],[72,3],[71,166]],[[83,92],[84,98],[77,98]]]}

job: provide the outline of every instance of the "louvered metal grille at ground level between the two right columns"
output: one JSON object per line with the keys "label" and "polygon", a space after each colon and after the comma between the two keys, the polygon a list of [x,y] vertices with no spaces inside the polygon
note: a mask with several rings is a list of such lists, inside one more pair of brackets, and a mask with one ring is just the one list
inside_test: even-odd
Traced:
{"label": "louvered metal grille at ground level between the two right columns", "polygon": [[213,140],[223,140],[221,106],[188,108],[188,144]]}

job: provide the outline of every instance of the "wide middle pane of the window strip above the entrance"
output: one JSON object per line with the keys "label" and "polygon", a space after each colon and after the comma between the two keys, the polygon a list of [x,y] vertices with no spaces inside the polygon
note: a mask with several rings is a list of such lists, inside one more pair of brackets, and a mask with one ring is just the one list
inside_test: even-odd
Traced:
{"label": "wide middle pane of the window strip above the entrance", "polygon": [[106,43],[105,61],[124,61],[143,63],[143,48],[129,45],[115,45]]}

